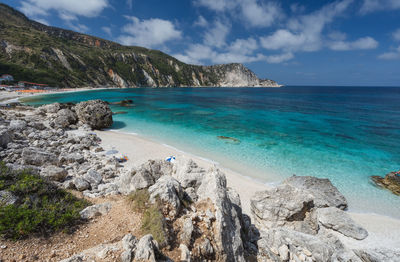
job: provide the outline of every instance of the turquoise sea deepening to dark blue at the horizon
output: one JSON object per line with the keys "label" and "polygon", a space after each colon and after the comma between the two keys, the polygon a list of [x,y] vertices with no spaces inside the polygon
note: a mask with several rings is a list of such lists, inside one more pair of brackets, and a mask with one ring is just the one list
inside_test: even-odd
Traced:
{"label": "turquoise sea deepening to dark blue at the horizon", "polygon": [[400,197],[369,179],[400,169],[400,88],[142,88],[46,95],[29,103],[89,99],[134,101],[131,108],[112,106],[127,111],[114,116],[112,129],[267,183],[292,174],[327,177],[350,210],[400,218]]}

